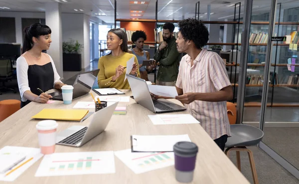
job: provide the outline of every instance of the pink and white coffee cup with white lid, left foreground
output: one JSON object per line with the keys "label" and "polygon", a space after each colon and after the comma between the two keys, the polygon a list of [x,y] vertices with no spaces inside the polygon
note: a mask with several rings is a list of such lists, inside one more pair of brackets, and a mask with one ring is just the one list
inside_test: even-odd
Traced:
{"label": "pink and white coffee cup with white lid, left foreground", "polygon": [[36,124],[38,143],[42,154],[55,152],[57,127],[58,123],[55,120],[43,120]]}

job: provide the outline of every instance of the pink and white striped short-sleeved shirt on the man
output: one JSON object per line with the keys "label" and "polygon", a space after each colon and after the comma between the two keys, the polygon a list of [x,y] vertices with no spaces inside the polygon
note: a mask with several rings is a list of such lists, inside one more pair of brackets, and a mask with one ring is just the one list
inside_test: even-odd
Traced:
{"label": "pink and white striped short-sleeved shirt on the man", "polygon": [[[183,93],[211,93],[231,85],[225,63],[217,53],[202,49],[193,63],[191,66],[188,54],[181,59],[176,87],[183,89]],[[230,136],[226,101],[196,100],[185,107],[213,140],[225,134]]]}

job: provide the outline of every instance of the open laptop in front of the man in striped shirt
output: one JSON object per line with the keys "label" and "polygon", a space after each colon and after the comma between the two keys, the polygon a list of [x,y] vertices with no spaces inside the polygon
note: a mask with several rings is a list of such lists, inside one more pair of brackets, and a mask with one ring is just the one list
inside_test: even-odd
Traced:
{"label": "open laptop in front of the man in striped shirt", "polygon": [[152,100],[146,80],[126,74],[135,101],[154,113],[168,113],[186,110],[185,107],[168,100]]}

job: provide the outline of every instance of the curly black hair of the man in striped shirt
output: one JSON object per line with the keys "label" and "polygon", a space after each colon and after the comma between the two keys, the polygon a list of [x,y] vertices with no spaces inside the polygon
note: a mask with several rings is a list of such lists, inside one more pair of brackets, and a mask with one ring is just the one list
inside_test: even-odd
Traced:
{"label": "curly black hair of the man in striped shirt", "polygon": [[192,40],[196,48],[202,48],[209,40],[207,27],[194,18],[184,19],[178,22],[179,31],[185,40]]}

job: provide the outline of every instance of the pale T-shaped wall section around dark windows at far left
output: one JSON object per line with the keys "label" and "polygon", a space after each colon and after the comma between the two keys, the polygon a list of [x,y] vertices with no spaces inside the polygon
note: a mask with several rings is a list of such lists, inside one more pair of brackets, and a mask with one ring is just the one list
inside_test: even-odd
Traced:
{"label": "pale T-shaped wall section around dark windows at far left", "polygon": [[0,17],[15,18],[15,40],[16,43],[23,44],[22,38],[22,18],[45,18],[44,12],[16,12],[16,11],[0,11]]}

